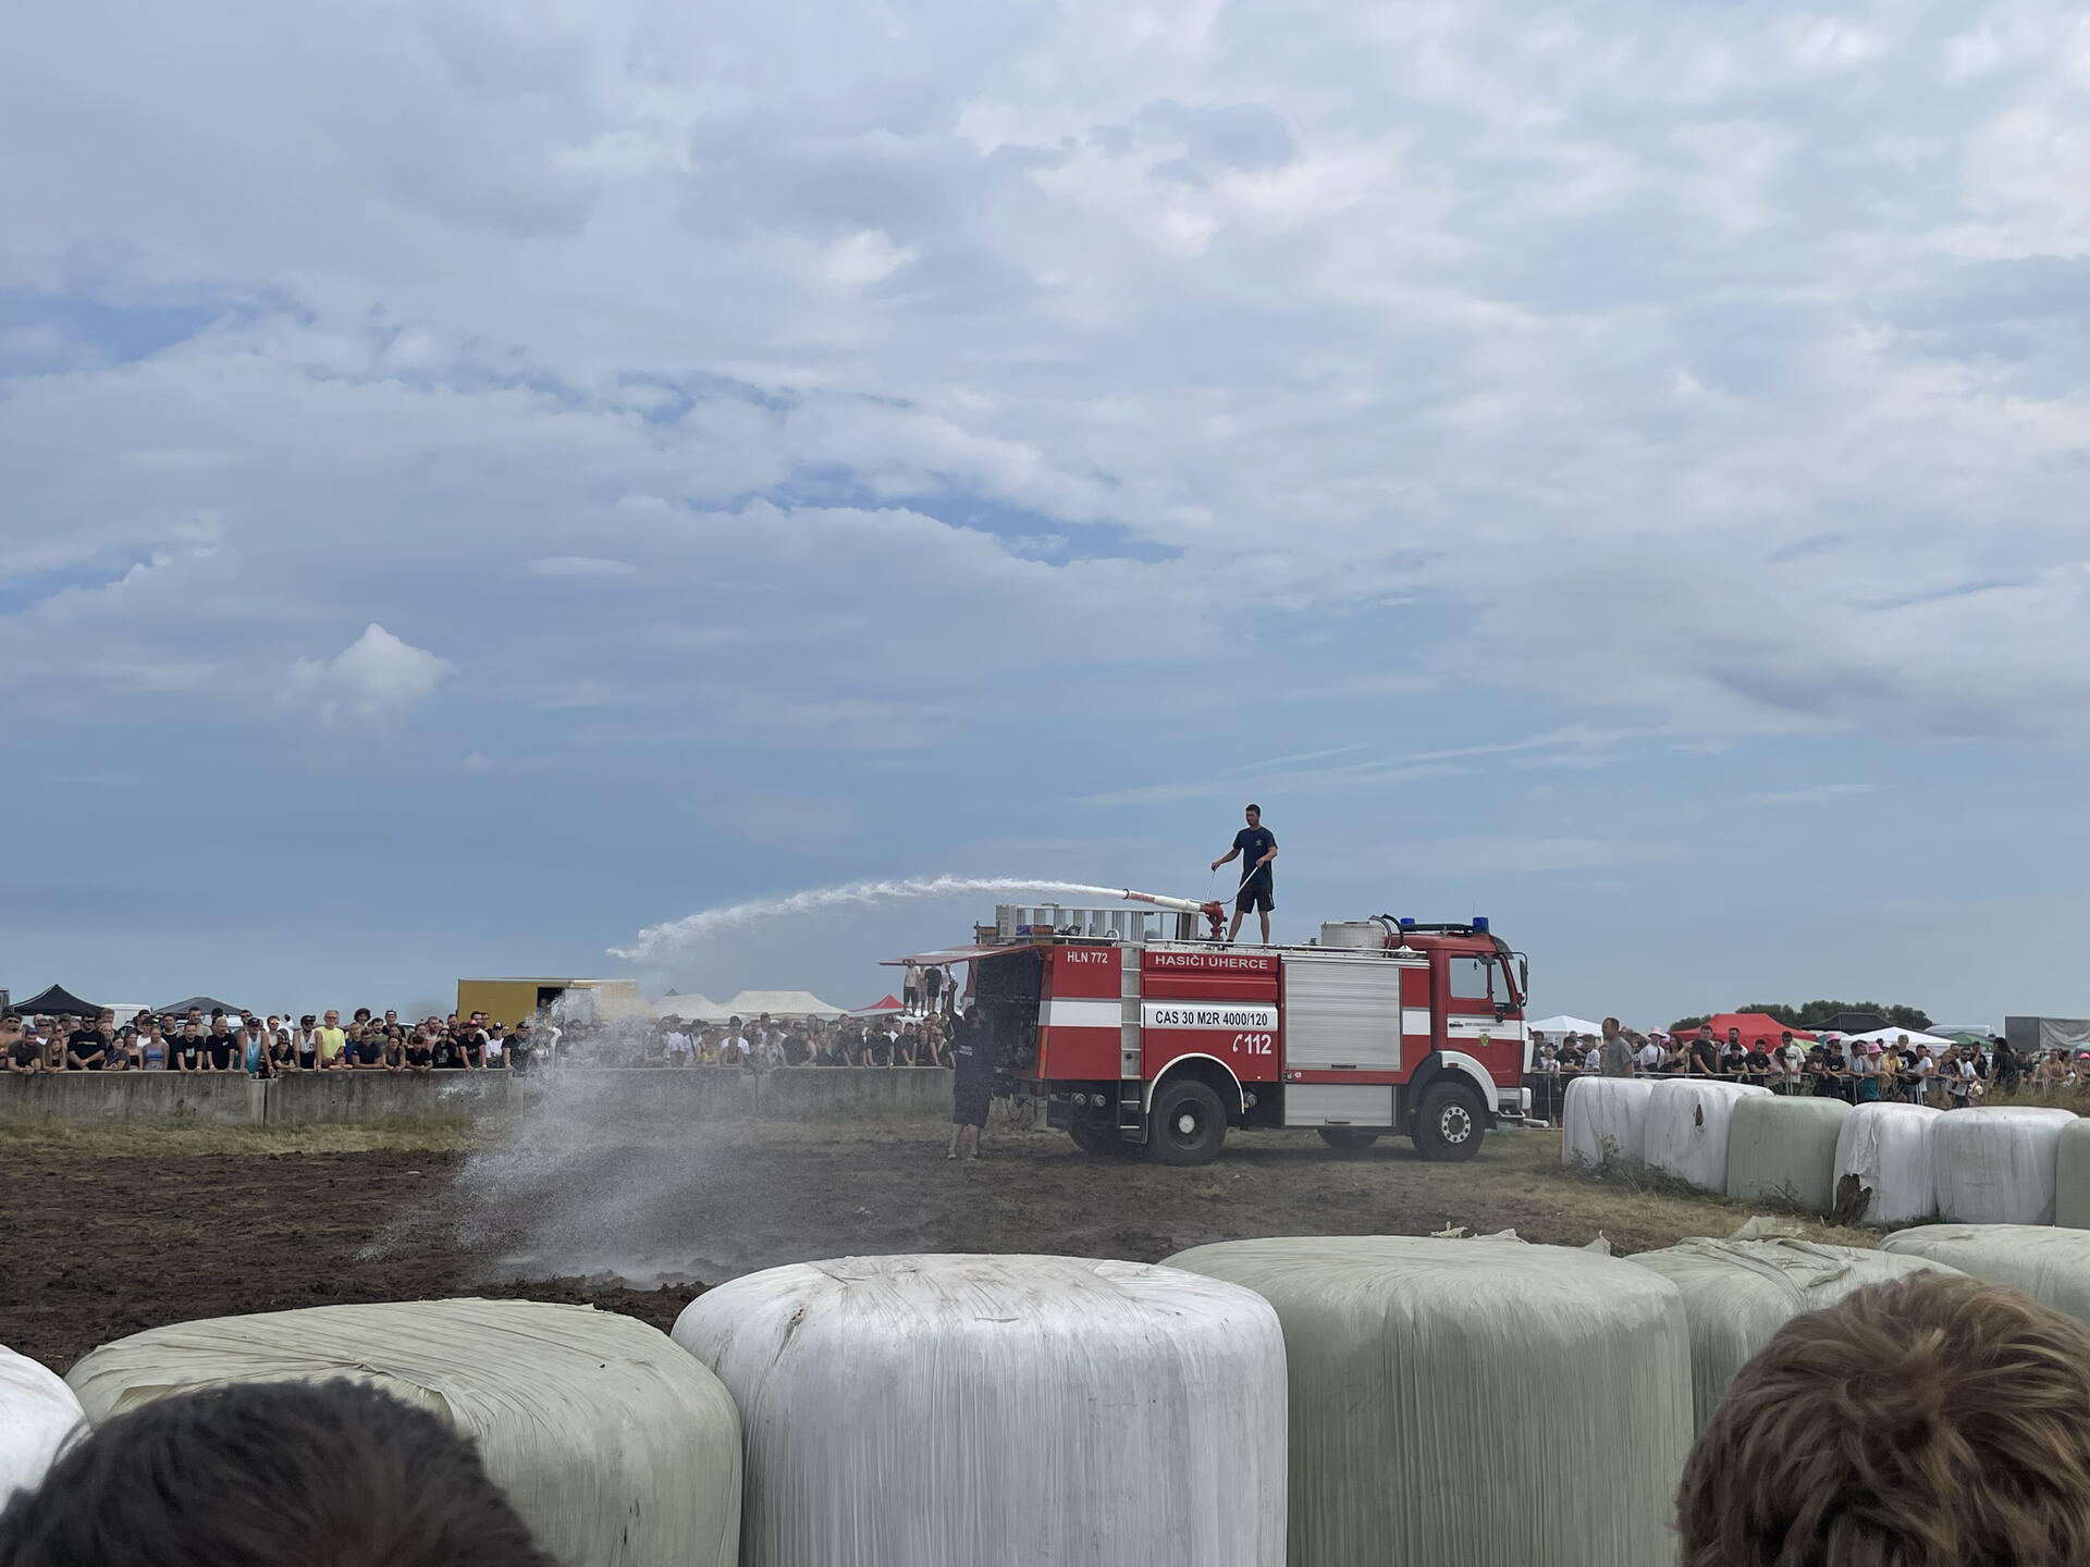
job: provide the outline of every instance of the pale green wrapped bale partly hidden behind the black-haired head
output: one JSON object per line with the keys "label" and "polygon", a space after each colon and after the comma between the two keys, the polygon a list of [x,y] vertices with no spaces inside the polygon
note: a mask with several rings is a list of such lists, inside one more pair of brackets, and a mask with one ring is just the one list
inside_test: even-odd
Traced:
{"label": "pale green wrapped bale partly hidden behind the black-haired head", "polygon": [[67,1375],[102,1421],[234,1381],[374,1383],[479,1442],[568,1567],[729,1567],[740,1419],[719,1379],[644,1323],[589,1306],[439,1300],[219,1316],[107,1343]]}

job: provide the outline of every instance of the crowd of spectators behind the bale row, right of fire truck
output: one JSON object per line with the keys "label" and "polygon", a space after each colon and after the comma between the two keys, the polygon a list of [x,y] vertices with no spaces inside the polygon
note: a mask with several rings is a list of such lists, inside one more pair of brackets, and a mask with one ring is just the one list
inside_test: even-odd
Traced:
{"label": "crowd of spectators behind the bale row, right of fire truck", "polygon": [[1563,1034],[1557,1043],[1538,1038],[1532,1053],[1534,1099],[1553,1107],[1578,1076],[1720,1078],[1747,1082],[1781,1095],[1812,1095],[1848,1103],[1881,1099],[1937,1109],[1977,1105],[1992,1091],[2059,1097],[2077,1082],[2090,1084],[2090,1053],[2042,1051],[2021,1057],[2002,1038],[1985,1045],[1929,1045],[1900,1034],[1889,1040],[1858,1040],[1825,1034],[1808,1040],[1793,1030],[1776,1038],[1743,1038],[1728,1028],[1718,1038],[1710,1026],[1689,1034],[1662,1030],[1639,1034],[1605,1018],[1599,1034]]}

